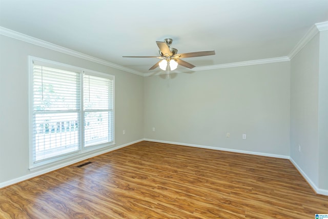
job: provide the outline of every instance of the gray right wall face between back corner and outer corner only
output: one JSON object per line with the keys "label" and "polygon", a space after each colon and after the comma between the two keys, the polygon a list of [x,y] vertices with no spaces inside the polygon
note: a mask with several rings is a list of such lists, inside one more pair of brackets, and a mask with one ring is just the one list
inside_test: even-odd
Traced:
{"label": "gray right wall face between back corner and outer corner only", "polygon": [[291,157],[315,185],[319,155],[318,70],[319,34],[291,61]]}

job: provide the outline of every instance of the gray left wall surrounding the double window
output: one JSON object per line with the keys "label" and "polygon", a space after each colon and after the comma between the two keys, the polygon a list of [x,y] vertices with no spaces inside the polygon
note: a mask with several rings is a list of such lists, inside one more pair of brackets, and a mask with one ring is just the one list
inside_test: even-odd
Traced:
{"label": "gray left wall surrounding the double window", "polygon": [[[144,78],[0,35],[0,184],[29,168],[28,55],[115,75],[116,146],[142,140]],[[126,134],[122,134],[122,130]]]}

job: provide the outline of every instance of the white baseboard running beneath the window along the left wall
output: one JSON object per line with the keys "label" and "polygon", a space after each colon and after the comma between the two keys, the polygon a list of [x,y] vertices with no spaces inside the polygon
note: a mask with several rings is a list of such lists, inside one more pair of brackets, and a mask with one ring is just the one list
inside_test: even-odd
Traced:
{"label": "white baseboard running beneath the window along the left wall", "polygon": [[40,169],[40,170],[33,171],[30,174],[20,176],[20,177],[14,178],[12,180],[0,183],[0,189],[4,188],[4,187],[7,187],[7,186],[10,186],[10,185],[13,185],[13,184],[16,184],[16,183],[19,183],[19,182],[22,182],[22,181],[25,181],[25,180],[29,180],[30,178],[33,178],[35,176],[42,175],[42,174],[57,170],[59,168],[63,168],[63,167],[66,167],[66,166],[69,166],[69,165],[72,165],[72,164],[87,160],[91,157],[98,156],[100,154],[104,154],[104,153],[107,153],[107,152],[110,152],[110,151],[113,151],[113,150],[117,150],[119,148],[124,148],[126,146],[129,146],[129,145],[132,145],[132,144],[135,144],[135,143],[138,143],[138,142],[142,142],[142,141],[144,141],[144,140],[140,139],[140,140],[137,140],[137,141],[134,141],[134,142],[124,144],[124,145],[114,146],[114,147],[111,147],[109,149],[97,150],[94,153],[87,154],[86,156],[78,157],[78,158],[75,158],[73,160],[69,160],[67,162],[60,163],[58,165],[51,166],[51,167],[48,167],[48,168],[45,168],[45,169]]}

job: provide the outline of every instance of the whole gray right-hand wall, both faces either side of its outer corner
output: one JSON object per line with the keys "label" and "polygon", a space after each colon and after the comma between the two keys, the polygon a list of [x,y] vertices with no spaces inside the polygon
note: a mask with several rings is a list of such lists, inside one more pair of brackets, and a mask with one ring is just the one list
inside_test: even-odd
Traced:
{"label": "whole gray right-hand wall, both faces either side of its outer corner", "polygon": [[328,31],[321,31],[291,61],[291,158],[316,190],[328,189],[327,126]]}

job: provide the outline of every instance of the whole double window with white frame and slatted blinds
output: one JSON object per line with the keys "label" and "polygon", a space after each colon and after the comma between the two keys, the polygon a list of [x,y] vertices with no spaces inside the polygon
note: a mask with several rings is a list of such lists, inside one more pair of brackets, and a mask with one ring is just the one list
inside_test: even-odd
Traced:
{"label": "whole double window with white frame and slatted blinds", "polygon": [[30,57],[30,169],[114,144],[114,76]]}

